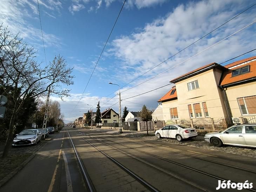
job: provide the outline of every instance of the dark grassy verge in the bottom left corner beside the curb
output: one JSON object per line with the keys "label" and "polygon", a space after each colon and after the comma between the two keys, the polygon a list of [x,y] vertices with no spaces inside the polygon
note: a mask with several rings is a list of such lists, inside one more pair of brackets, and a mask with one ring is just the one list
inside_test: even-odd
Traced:
{"label": "dark grassy verge in the bottom left corner beside the curb", "polygon": [[14,171],[31,155],[31,153],[9,154],[8,157],[4,159],[0,158],[0,180],[2,180],[9,173]]}

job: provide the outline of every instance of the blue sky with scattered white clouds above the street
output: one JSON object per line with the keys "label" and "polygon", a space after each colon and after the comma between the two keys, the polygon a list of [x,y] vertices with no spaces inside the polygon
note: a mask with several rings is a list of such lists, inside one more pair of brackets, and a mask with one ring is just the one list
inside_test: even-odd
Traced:
{"label": "blue sky with scattered white clouds above the street", "polygon": [[[163,62],[254,5],[253,0],[127,0],[85,90],[123,0],[38,2],[0,0],[0,23],[8,26],[14,34],[19,32],[24,41],[38,50],[38,62],[50,62],[55,55],[60,54],[66,59],[68,66],[73,68],[74,84],[67,87],[70,89],[70,97],[61,101],[56,95],[50,96],[51,100],[60,102],[65,122],[82,116],[90,105],[93,105],[95,111],[98,101],[101,111],[111,107],[118,112],[119,96],[116,94],[119,87],[108,84],[109,82],[123,87],[132,81],[121,88],[121,98],[124,99],[166,85],[171,79],[198,67],[212,62],[222,63],[255,49],[256,24],[242,28],[256,20],[256,5]],[[242,30],[237,32],[240,29]],[[235,32],[235,35],[228,37]],[[228,38],[223,40],[226,37]],[[219,41],[221,42],[217,43]],[[214,45],[215,43],[217,44]],[[210,48],[207,49],[208,47]],[[203,51],[204,49],[207,50]],[[251,52],[236,60],[255,55],[256,52]],[[150,70],[161,62],[163,63],[158,67]],[[139,77],[148,70],[148,73]],[[135,78],[137,79],[133,81]],[[146,80],[149,81],[145,82]],[[134,87],[135,85],[138,86]],[[155,109],[157,101],[172,86],[122,100],[122,110],[127,106],[130,111],[140,111],[143,104],[150,110]]]}

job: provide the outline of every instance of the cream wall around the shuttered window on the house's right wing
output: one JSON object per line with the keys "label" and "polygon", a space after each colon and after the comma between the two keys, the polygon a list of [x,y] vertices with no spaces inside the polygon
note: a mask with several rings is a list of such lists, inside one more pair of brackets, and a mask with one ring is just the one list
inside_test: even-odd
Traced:
{"label": "cream wall around the shuttered window on the house's right wing", "polygon": [[228,87],[225,88],[225,92],[229,101],[230,111],[233,117],[250,116],[242,115],[237,98],[256,95],[256,82]]}

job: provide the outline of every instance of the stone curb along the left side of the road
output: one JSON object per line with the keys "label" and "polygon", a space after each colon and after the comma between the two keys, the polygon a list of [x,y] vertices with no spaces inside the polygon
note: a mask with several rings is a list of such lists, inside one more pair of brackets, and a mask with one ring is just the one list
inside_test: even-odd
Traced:
{"label": "stone curb along the left side of the road", "polygon": [[[54,137],[56,136],[56,134],[50,138],[48,141],[52,140]],[[46,143],[47,143],[46,142]],[[40,142],[41,143],[41,142]],[[46,145],[46,143],[42,144],[37,151],[39,151],[43,146]],[[16,169],[14,169],[11,173],[8,174],[8,176],[6,176],[5,178],[3,178],[1,181],[0,181],[0,187],[2,187],[3,185],[5,185],[12,177],[14,177],[20,170],[22,170],[36,155],[35,152],[37,151],[33,151],[33,152],[29,152],[29,153],[32,153],[30,157],[28,157],[20,166],[16,167]]]}

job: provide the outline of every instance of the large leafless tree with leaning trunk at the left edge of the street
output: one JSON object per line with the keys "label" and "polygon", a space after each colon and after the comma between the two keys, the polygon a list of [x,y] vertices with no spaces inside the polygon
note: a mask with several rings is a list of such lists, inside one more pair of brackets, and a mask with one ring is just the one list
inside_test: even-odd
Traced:
{"label": "large leafless tree with leaning trunk at the left edge of the street", "polygon": [[10,102],[14,103],[3,158],[8,155],[14,122],[26,98],[45,96],[49,87],[61,98],[69,96],[69,90],[62,89],[62,85],[73,84],[73,68],[67,67],[62,56],[55,56],[52,62],[41,67],[35,54],[35,49],[23,42],[19,34],[13,35],[0,25],[0,86],[4,90],[0,94],[11,97]]}

